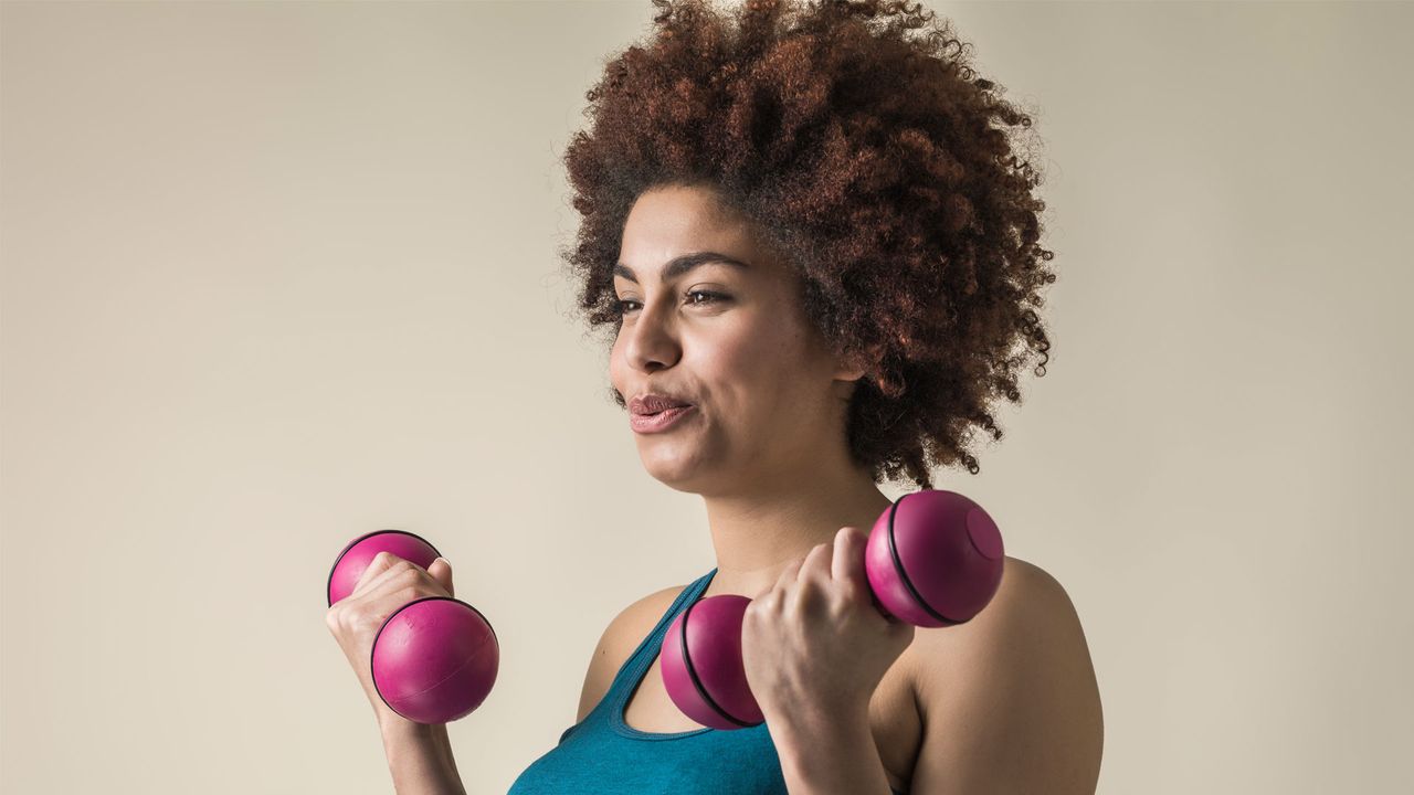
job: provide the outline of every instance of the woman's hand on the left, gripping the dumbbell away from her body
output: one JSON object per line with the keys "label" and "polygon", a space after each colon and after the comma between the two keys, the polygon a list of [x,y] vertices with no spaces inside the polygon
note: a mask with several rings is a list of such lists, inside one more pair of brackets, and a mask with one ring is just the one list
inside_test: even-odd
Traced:
{"label": "woman's hand on the left, gripping the dumbbell away from her body", "polygon": [[414,723],[393,712],[373,686],[370,659],[373,639],[389,615],[404,604],[423,597],[452,597],[451,564],[444,557],[424,570],[390,552],[379,552],[359,576],[354,591],[329,607],[325,622],[344,656],[354,666],[363,695],[373,706],[378,724],[385,730]]}

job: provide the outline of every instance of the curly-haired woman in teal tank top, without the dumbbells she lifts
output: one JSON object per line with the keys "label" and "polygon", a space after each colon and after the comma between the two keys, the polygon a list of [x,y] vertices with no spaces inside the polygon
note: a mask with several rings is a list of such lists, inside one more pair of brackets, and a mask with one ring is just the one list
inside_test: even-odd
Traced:
{"label": "curly-haired woman in teal tank top, without the dumbbells she lifts", "polygon": [[[1001,439],[990,403],[1019,402],[1032,352],[1044,375],[1045,205],[1008,134],[1029,119],[946,24],[911,35],[918,7],[655,4],[566,153],[567,259],[642,463],[703,497],[717,566],[608,625],[575,724],[510,795],[1094,792],[1099,692],[1052,577],[1008,557],[988,607],[940,629],[887,621],[864,581],[880,480],[977,472],[973,426]],[[390,563],[351,597],[366,627],[393,583],[451,593],[445,562]],[[754,729],[701,727],[659,675],[667,622],[717,594],[754,598]],[[363,635],[341,639],[361,678]],[[399,792],[460,791],[443,727],[379,720]]]}

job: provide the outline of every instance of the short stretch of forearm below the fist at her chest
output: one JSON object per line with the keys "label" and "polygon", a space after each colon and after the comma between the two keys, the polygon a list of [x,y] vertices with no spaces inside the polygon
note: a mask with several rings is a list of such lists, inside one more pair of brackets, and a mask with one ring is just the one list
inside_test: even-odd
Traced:
{"label": "short stretch of forearm below the fist at her chest", "polygon": [[891,795],[868,713],[846,720],[771,724],[790,795]]}

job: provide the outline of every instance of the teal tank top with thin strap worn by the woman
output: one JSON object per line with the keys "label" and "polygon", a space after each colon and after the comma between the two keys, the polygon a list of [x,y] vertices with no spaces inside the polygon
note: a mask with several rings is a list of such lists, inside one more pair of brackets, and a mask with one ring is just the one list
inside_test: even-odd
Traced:
{"label": "teal tank top with thin strap worn by the woman", "polygon": [[[677,594],[653,631],[619,666],[614,683],[556,747],[530,762],[506,795],[786,795],[781,758],[765,723],[720,731],[639,731],[624,710],[658,658],[667,625],[687,610],[717,570]],[[895,795],[904,795],[892,789]]]}

